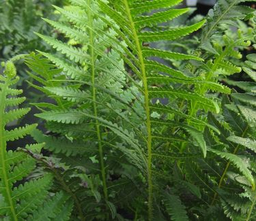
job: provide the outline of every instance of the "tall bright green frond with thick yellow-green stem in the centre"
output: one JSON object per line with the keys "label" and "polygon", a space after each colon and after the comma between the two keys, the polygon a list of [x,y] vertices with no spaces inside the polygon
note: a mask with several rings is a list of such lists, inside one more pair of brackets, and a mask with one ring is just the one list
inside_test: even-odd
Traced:
{"label": "tall bright green frond with thick yellow-green stem in the centre", "polygon": [[[152,14],[151,16],[143,16],[141,15],[143,12],[151,12],[152,10],[157,10],[159,8],[167,8],[175,5],[179,1],[145,1],[145,2],[137,2],[137,1],[122,1],[114,2],[113,5],[115,10],[113,10],[109,5],[100,2],[102,10],[106,12],[113,20],[122,28],[123,33],[122,37],[126,44],[130,47],[130,50],[136,54],[136,58],[130,58],[131,69],[137,74],[137,77],[141,80],[143,86],[141,87],[141,91],[144,96],[144,108],[145,108],[145,121],[146,121],[146,143],[147,146],[147,185],[148,185],[148,218],[152,220],[153,218],[153,180],[152,171],[154,166],[152,167],[153,161],[152,158],[154,156],[158,156],[156,152],[156,147],[160,145],[159,140],[173,141],[178,140],[177,134],[173,133],[171,135],[169,133],[169,129],[181,128],[186,131],[188,134],[197,141],[199,148],[201,148],[201,152],[203,155],[206,154],[205,143],[200,135],[200,131],[198,131],[195,127],[190,126],[186,123],[175,122],[174,119],[165,118],[165,121],[162,121],[162,117],[165,114],[175,113],[180,115],[183,118],[190,118],[188,115],[182,113],[180,109],[172,109],[168,105],[167,107],[161,107],[161,105],[154,105],[151,101],[154,97],[167,97],[170,99],[170,103],[178,102],[179,99],[182,99],[182,102],[191,101],[199,101],[198,109],[205,109],[206,111],[212,110],[213,112],[218,112],[218,105],[212,101],[212,99],[207,99],[205,97],[199,96],[193,91],[186,89],[183,87],[183,90],[179,90],[175,88],[175,84],[180,83],[184,85],[208,85],[209,88],[213,86],[211,82],[205,82],[201,80],[201,78],[193,78],[188,75],[182,73],[181,71],[176,71],[170,67],[162,65],[156,61],[152,61],[149,59],[150,57],[159,57],[159,58],[173,58],[173,59],[195,59],[200,60],[199,58],[185,55],[185,54],[176,54],[173,52],[161,51],[155,48],[148,48],[143,46],[145,42],[152,41],[160,41],[160,40],[173,40],[178,37],[182,37],[196,31],[201,27],[204,21],[199,22],[197,24],[193,24],[190,27],[180,27],[177,29],[169,29],[168,27],[162,27],[161,31],[154,32],[154,26],[160,24],[161,22],[165,22],[172,18],[175,18],[175,12],[177,14],[182,14],[183,10],[164,10],[163,12],[157,12],[156,14]],[[158,18],[158,19],[156,19]],[[145,27],[150,28],[150,31],[145,31]],[[135,64],[135,65],[133,65]],[[160,84],[160,86],[156,87],[154,85]],[[172,86],[170,86],[173,85]],[[216,87],[221,90],[221,86],[216,84]],[[218,90],[218,89],[217,89]],[[175,101],[177,100],[177,101]],[[182,108],[184,108],[182,106]],[[152,118],[153,112],[156,112],[160,117]],[[192,119],[191,119],[192,120]],[[192,120],[193,121],[193,120]],[[201,124],[205,126],[205,122],[197,122],[197,124]],[[163,126],[164,125],[164,126]],[[159,134],[158,131],[161,131],[162,134]],[[165,137],[165,132],[168,131],[168,135]],[[184,150],[180,150],[183,152]],[[188,152],[190,152],[188,150]],[[156,154],[156,155],[155,155]],[[164,155],[162,155],[164,156]],[[153,159],[154,160],[154,159]]]}

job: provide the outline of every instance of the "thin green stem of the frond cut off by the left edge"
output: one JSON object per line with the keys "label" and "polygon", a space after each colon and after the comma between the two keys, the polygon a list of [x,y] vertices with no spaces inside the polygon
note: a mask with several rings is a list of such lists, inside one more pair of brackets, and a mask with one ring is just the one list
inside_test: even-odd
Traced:
{"label": "thin green stem of the frond cut off by the left edge", "polygon": [[6,142],[3,139],[3,131],[5,130],[5,125],[3,123],[3,113],[5,111],[5,106],[4,106],[4,101],[5,101],[5,97],[6,97],[6,93],[5,90],[7,89],[7,85],[8,85],[9,80],[7,80],[7,82],[5,83],[5,85],[2,88],[2,91],[0,93],[1,97],[0,97],[0,154],[1,154],[1,170],[2,170],[2,183],[4,185],[4,188],[6,190],[6,201],[8,201],[8,204],[10,205],[10,211],[11,211],[11,216],[12,216],[12,220],[13,221],[18,221],[17,218],[17,214],[16,214],[16,210],[14,207],[14,203],[12,201],[12,194],[11,194],[11,189],[10,189],[10,184],[9,184],[9,180],[8,180],[8,171],[7,168],[5,167],[5,162],[6,162]]}

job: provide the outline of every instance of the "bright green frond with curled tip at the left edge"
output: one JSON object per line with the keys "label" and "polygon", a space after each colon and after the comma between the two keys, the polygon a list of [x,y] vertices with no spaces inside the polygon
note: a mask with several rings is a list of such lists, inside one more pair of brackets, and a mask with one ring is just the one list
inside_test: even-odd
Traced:
{"label": "bright green frond with curled tip at the left edge", "polygon": [[[18,82],[16,68],[12,61],[8,61],[4,66],[5,71],[0,75],[0,218],[17,221],[42,220],[42,212],[44,212],[44,220],[50,220],[57,218],[59,212],[67,209],[66,216],[63,215],[61,220],[68,220],[72,209],[72,207],[66,207],[68,195],[63,192],[56,193],[54,197],[49,195],[48,190],[53,183],[53,176],[45,173],[36,180],[28,180],[27,176],[35,169],[36,161],[25,152],[7,149],[9,141],[29,135],[36,124],[19,127],[12,131],[5,129],[8,122],[24,116],[29,112],[29,108],[10,109],[23,103],[25,97],[18,97],[22,90],[12,88]],[[44,143],[34,143],[27,145],[26,150],[39,154],[43,146]]]}

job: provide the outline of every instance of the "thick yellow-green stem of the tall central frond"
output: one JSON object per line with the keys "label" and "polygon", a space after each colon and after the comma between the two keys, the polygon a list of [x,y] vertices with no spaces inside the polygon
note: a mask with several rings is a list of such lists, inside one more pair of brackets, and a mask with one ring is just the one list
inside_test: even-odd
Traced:
{"label": "thick yellow-green stem of the tall central frond", "polygon": [[125,5],[126,14],[130,21],[132,35],[138,50],[139,62],[141,65],[142,82],[145,96],[145,112],[146,112],[146,126],[147,126],[147,185],[148,185],[148,219],[153,219],[153,185],[152,185],[152,129],[150,122],[150,98],[147,88],[147,75],[145,70],[144,58],[141,50],[141,44],[137,35],[137,30],[132,19],[130,7],[127,0],[123,0]]}

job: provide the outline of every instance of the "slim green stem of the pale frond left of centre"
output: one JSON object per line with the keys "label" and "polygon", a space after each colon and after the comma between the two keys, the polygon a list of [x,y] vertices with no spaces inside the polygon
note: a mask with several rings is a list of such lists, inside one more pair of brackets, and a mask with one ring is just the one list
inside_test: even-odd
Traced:
{"label": "slim green stem of the pale frond left of centre", "polygon": [[[89,5],[91,5],[91,0],[89,0]],[[88,12],[88,18],[89,18],[89,42],[90,42],[90,55],[91,55],[91,84],[92,84],[92,100],[94,105],[94,116],[98,118],[98,109],[96,104],[96,87],[95,87],[95,78],[96,78],[96,70],[95,70],[95,51],[94,51],[94,33],[93,33],[93,16],[91,14],[91,11]],[[106,171],[104,166],[104,156],[103,156],[103,148],[102,148],[102,138],[100,135],[100,124],[98,120],[96,120],[96,133],[98,137],[98,152],[100,156],[100,171],[102,175],[102,185],[103,185],[103,192],[104,192],[104,199],[105,201],[108,201],[108,190],[106,186]]]}

